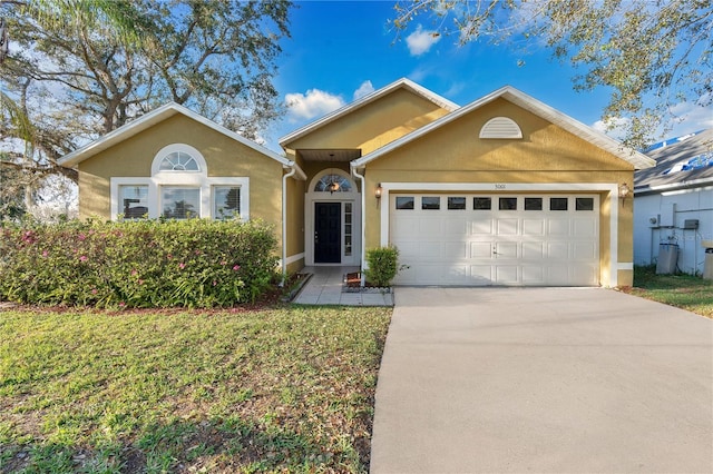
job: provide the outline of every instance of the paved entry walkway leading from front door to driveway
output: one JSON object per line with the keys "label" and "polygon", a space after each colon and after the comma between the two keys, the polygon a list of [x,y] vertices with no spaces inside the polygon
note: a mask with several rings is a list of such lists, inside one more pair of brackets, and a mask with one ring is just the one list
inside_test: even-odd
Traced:
{"label": "paved entry walkway leading from front door to driveway", "polygon": [[344,277],[359,267],[305,267],[312,274],[293,303],[297,305],[393,306],[392,293],[379,290],[344,293]]}

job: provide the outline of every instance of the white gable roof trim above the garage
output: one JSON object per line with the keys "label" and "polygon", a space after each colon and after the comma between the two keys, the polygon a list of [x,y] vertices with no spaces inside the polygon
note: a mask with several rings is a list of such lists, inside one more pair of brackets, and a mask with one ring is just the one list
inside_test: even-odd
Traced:
{"label": "white gable roof trim above the garage", "polygon": [[473,102],[470,102],[467,106],[463,106],[459,109],[453,110],[452,112],[441,117],[438,120],[432,121],[429,125],[426,125],[409,135],[401,137],[398,140],[392,141],[384,147],[381,147],[371,154],[364,155],[363,157],[351,162],[352,167],[361,168],[369,164],[370,161],[397,149],[400,148],[419,137],[422,137],[440,127],[443,127],[447,124],[457,120],[458,118],[469,113],[480,107],[484,107],[487,103],[492,102],[496,99],[505,99],[516,106],[551,122],[563,128],[564,130],[569,131],[570,134],[583,138],[584,140],[590,142],[592,145],[611,152],[612,155],[632,164],[636,169],[649,168],[655,165],[655,161],[648,158],[647,156],[632,150],[625,149],[624,146],[617,140],[607,137],[606,135],[593,129],[592,127],[587,127],[586,125],[575,120],[574,118],[560,112],[559,110],[540,102],[539,100],[528,96],[527,93],[511,87],[506,86],[502,87]]}

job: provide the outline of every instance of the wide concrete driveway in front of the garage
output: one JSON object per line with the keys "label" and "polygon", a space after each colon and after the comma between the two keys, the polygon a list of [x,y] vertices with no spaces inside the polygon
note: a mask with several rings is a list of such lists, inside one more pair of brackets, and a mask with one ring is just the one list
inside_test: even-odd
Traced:
{"label": "wide concrete driveway in front of the garage", "polygon": [[395,292],[372,473],[713,472],[713,322],[602,288]]}

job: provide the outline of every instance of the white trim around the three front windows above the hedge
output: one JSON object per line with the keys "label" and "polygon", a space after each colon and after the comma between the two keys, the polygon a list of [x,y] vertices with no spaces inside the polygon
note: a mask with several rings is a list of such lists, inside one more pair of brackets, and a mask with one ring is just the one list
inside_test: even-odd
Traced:
{"label": "white trim around the three front windows above the hedge", "polygon": [[[213,187],[214,186],[237,186],[241,188],[241,219],[250,220],[250,178],[243,177],[216,177],[204,178],[197,176],[195,172],[188,175],[173,175],[165,176],[166,172],[162,172],[160,176],[152,178],[146,177],[121,177],[111,178],[110,181],[110,195],[111,195],[111,220],[116,220],[123,208],[119,199],[120,186],[148,186],[148,218],[156,219],[160,217],[162,201],[160,201],[160,188],[162,186],[175,186],[186,188],[201,189],[201,217],[214,218],[213,216]],[[197,179],[188,179],[193,175]]]}

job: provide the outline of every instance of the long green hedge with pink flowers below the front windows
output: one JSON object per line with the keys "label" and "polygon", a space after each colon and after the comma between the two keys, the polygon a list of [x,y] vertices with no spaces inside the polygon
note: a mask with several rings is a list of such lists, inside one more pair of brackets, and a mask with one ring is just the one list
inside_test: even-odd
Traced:
{"label": "long green hedge with pink flowers below the front windows", "polygon": [[3,225],[0,298],[98,307],[253,302],[277,265],[260,221],[139,220]]}

